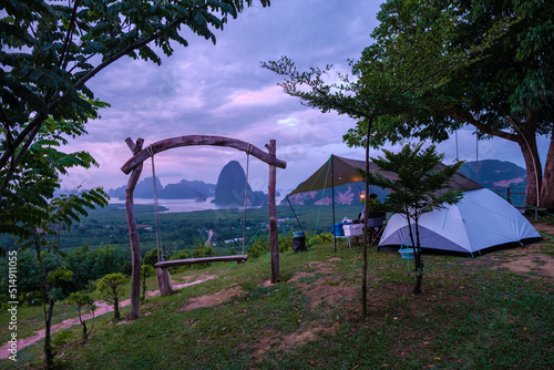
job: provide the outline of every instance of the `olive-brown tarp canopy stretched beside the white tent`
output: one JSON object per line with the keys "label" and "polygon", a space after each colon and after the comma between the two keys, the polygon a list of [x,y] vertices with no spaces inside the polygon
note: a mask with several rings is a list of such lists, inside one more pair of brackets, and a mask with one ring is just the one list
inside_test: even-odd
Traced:
{"label": "olive-brown tarp canopy stretched beside the white tent", "polygon": [[[447,165],[440,164],[439,166],[437,166],[437,171],[443,169]],[[366,169],[366,161],[345,158],[331,154],[329,161],[327,161],[321,167],[319,167],[319,169],[316,171],[310,177],[308,177],[308,179],[298,185],[289,195],[315,192],[324,188],[330,188],[332,186],[340,186],[363,181],[356,168]],[[369,171],[377,171],[381,175],[390,179],[398,178],[396,173],[381,171],[372,162],[369,163]],[[448,189],[474,191],[479,188],[483,188],[483,186],[461,174],[455,174],[450,181]]]}

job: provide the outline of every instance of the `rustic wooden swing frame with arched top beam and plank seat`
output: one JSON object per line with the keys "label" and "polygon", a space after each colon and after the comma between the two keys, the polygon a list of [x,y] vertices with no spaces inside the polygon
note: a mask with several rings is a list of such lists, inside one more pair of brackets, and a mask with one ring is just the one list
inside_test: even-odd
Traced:
{"label": "rustic wooden swing frame with arched top beam and plank seat", "polygon": [[[240,140],[212,136],[212,135],[185,135],[172,138],[165,138],[151,144],[147,148],[143,148],[144,140],[138,137],[133,142],[131,137],[125,140],[125,143],[133,152],[133,156],[125,162],[121,171],[130,175],[127,187],[125,189],[125,209],[127,215],[129,238],[131,243],[131,258],[132,258],[132,274],[131,274],[131,319],[136,319],[140,316],[141,305],[141,248],[138,239],[138,227],[136,225],[136,217],[134,213],[133,194],[141,177],[143,169],[143,162],[152,155],[179,146],[193,145],[213,145],[233,147],[238,151],[252,154],[256,158],[269,165],[269,184],[268,184],[268,208],[269,208],[269,251],[271,256],[271,284],[279,282],[279,238],[277,233],[277,208],[275,201],[276,189],[276,173],[277,167],[286,168],[287,163],[276,157],[276,142],[270,140],[266,144],[267,152],[259,150],[250,143]],[[173,291],[170,285],[170,276],[167,268],[172,266],[184,266],[192,264],[212,263],[212,261],[234,261],[244,263],[247,259],[246,255],[237,256],[219,256],[219,257],[204,257],[191,258],[179,260],[164,260],[158,261],[154,266],[156,268],[157,282],[160,292],[168,295]]]}

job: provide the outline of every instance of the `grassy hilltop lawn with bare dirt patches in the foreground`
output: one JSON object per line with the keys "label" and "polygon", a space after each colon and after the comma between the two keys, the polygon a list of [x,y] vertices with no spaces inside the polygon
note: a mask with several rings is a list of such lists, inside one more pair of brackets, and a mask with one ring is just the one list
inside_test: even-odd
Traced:
{"label": "grassy hilltop lawn with bare dirt patches in the foreground", "polygon": [[[423,292],[413,296],[406,260],[370,250],[366,318],[361,249],[335,253],[331,245],[317,245],[311,253],[281,254],[277,285],[267,284],[267,256],[245,265],[216,264],[173,275],[175,284],[217,277],[150,298],[138,320],[114,325],[111,314],[103,316],[85,345],[80,327],[66,329],[57,363],[61,369],[548,369],[554,289],[542,268],[552,266],[553,251],[550,239],[475,259],[427,256]],[[537,269],[514,273],[504,266],[521,256],[535,260]],[[199,299],[208,304],[186,308]],[[73,315],[57,307],[62,312]],[[27,326],[40,327],[35,309],[19,315],[21,336],[31,332]],[[0,367],[40,368],[41,347],[24,348],[17,363],[2,360]]]}

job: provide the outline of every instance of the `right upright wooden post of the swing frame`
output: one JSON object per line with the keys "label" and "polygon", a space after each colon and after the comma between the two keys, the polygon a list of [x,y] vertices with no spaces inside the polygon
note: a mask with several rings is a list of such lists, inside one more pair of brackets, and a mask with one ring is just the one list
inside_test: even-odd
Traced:
{"label": "right upright wooden post of the swing frame", "polygon": [[[276,156],[275,140],[270,140],[266,144],[267,153]],[[277,230],[277,206],[275,204],[275,187],[277,167],[273,164],[269,165],[269,184],[267,186],[267,203],[269,208],[269,253],[271,255],[271,284],[280,281],[279,278],[279,234]]]}

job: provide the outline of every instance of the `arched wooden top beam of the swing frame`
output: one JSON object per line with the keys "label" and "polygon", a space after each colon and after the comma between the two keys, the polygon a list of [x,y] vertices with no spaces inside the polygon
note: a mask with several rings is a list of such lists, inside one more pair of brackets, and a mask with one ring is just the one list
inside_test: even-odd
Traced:
{"label": "arched wooden top beam of the swing frame", "polygon": [[[158,142],[151,144],[148,147],[152,150],[153,154],[156,154],[160,152],[171,150],[173,147],[192,146],[192,145],[215,145],[215,146],[234,147],[243,152],[249,152],[256,158],[267,164],[274,165],[276,167],[285,168],[287,166],[287,163],[285,161],[277,160],[275,156],[271,156],[270,154],[259,150],[253,144],[243,142],[240,140],[224,137],[224,136],[212,136],[212,135],[177,136],[177,137],[161,140]],[[136,167],[137,165],[150,158],[148,147],[133,155],[131,160],[129,160],[121,167],[121,171],[123,171],[126,175],[129,175],[134,167]]]}

